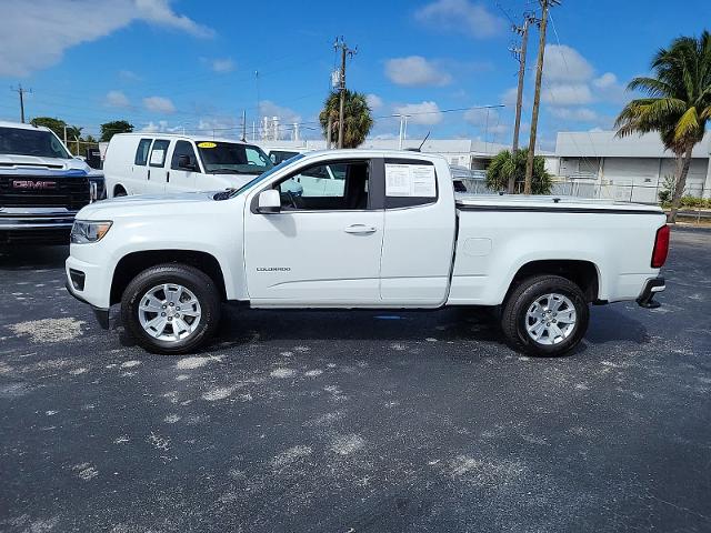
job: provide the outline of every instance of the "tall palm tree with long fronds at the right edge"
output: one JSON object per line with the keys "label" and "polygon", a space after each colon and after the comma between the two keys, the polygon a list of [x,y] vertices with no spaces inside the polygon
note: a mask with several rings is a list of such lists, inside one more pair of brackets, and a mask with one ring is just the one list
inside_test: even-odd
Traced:
{"label": "tall palm tree with long fronds at the right edge", "polygon": [[628,103],[615,121],[618,137],[659,132],[664,148],[677,157],[675,187],[669,222],[677,211],[687,184],[691,151],[701,141],[711,118],[711,34],[680,37],[652,59],[653,77],[634,78],[628,90],[640,90],[648,98]]}

